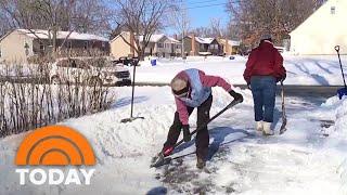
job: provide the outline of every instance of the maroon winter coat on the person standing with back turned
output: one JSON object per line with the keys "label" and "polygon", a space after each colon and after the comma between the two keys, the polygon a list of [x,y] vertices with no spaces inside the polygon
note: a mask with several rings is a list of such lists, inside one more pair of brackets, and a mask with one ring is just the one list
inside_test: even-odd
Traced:
{"label": "maroon winter coat on the person standing with back turned", "polygon": [[270,41],[261,42],[250,52],[243,77],[249,83],[252,76],[273,76],[278,81],[285,78],[283,57]]}

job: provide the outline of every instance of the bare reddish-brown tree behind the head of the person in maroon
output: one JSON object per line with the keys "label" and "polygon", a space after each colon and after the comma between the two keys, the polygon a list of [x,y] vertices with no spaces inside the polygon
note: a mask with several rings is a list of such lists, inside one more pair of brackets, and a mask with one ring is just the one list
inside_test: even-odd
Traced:
{"label": "bare reddish-brown tree behind the head of the person in maroon", "polygon": [[261,34],[274,36],[277,43],[314,12],[323,0],[229,0],[230,27],[248,46],[258,43]]}

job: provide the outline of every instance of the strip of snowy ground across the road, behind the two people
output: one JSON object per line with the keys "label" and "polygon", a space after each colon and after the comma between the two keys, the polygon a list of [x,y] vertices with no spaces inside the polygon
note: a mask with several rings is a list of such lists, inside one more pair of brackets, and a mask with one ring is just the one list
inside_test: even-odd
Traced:
{"label": "strip of snowy ground across the road, behind the two people", "polygon": [[[342,63],[347,73],[347,55],[342,55]],[[170,79],[180,70],[200,68],[206,74],[219,75],[234,84],[246,84],[243,79],[246,57],[202,56],[182,60],[158,58],[156,66],[151,61],[141,62],[138,68],[137,82],[169,83]],[[285,84],[299,86],[342,86],[342,75],[337,55],[325,56],[295,56],[284,55],[284,66],[287,69]],[[347,76],[347,75],[346,75]]]}

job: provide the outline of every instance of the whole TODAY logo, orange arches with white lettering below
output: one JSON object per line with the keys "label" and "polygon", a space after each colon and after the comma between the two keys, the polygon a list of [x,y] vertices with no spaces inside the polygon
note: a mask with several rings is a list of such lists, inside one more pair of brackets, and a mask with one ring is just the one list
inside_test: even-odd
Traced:
{"label": "whole TODAY logo, orange arches with white lettering below", "polygon": [[[15,165],[17,166],[93,166],[95,156],[86,138],[72,128],[49,126],[29,133],[21,143]],[[48,182],[50,185],[90,184],[95,169],[16,169],[20,173],[20,184],[26,181],[36,185]],[[80,180],[80,174],[83,180]]]}

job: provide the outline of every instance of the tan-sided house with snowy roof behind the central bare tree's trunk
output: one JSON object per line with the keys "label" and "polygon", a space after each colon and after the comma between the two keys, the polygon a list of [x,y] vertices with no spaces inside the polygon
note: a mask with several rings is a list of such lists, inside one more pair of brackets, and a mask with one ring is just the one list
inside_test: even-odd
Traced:
{"label": "tan-sided house with snowy roof behind the central bare tree's trunk", "polygon": [[[143,36],[130,36],[130,32],[125,31],[123,31],[120,35],[111,40],[112,55],[116,58],[121,56],[138,56],[136,50],[128,43],[133,44],[136,47],[137,44],[134,41],[138,38],[140,39],[140,43],[142,44]],[[145,56],[171,57],[179,56],[180,54],[180,41],[167,37],[164,34],[152,35],[150,38],[150,42],[144,50]]]}

